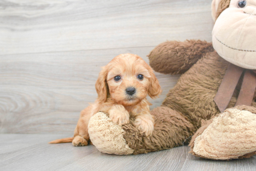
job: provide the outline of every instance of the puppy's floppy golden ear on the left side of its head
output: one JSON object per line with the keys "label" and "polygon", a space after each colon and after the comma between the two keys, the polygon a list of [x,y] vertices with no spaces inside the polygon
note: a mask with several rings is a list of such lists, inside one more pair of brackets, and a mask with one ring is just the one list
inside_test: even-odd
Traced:
{"label": "puppy's floppy golden ear on the left side of its head", "polygon": [[98,100],[99,102],[105,102],[107,100],[107,67],[103,67],[100,71],[98,80],[96,81],[95,88],[98,93]]}

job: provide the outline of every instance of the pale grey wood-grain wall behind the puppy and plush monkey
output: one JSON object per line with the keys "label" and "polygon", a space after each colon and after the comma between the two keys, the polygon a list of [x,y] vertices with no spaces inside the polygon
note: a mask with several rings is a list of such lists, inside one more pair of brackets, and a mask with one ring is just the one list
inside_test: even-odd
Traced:
{"label": "pale grey wood-grain wall behind the puppy and plush monkey", "polygon": [[[146,62],[166,40],[211,41],[211,0],[0,0],[0,133],[73,132],[118,54]],[[179,75],[156,73],[161,105]]]}

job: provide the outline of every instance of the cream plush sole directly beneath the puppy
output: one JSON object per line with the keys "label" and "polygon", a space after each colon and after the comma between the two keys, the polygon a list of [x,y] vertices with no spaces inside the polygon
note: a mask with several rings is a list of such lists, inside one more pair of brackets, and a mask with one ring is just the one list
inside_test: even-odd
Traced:
{"label": "cream plush sole directly beneath the puppy", "polygon": [[121,126],[102,112],[98,112],[90,118],[88,132],[93,145],[102,153],[127,155],[132,154],[123,136]]}

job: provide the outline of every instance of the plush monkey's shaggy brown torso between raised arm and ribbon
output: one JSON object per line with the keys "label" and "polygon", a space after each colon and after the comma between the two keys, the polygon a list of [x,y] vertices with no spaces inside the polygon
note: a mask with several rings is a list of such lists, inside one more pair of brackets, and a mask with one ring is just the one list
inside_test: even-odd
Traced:
{"label": "plush monkey's shaggy brown torso between raised arm and ribbon", "polygon": [[202,119],[210,119],[219,113],[213,99],[228,65],[215,51],[207,53],[179,78],[163,106],[181,112],[200,128]]}

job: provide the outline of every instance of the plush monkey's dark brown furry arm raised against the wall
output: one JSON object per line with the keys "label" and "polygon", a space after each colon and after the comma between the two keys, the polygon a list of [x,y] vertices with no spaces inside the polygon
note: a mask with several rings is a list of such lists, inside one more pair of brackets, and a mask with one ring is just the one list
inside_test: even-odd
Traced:
{"label": "plush monkey's dark brown furry arm raised against the wall", "polygon": [[157,45],[148,55],[151,67],[164,74],[183,74],[203,54],[214,51],[212,43],[201,40],[167,41]]}

